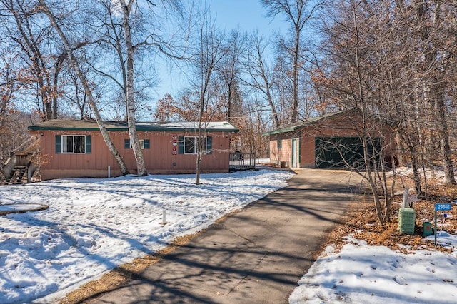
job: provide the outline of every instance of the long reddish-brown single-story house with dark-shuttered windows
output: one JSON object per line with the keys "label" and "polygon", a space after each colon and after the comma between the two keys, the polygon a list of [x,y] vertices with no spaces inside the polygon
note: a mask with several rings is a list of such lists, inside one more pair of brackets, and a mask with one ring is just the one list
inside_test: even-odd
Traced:
{"label": "long reddish-brown single-story house with dark-shuttered windows", "polygon": [[[127,168],[136,173],[126,122],[107,121],[111,141]],[[229,172],[230,137],[238,129],[228,122],[204,123],[206,151],[202,173]],[[40,138],[42,180],[53,178],[119,176],[119,165],[95,121],[51,120],[29,126]],[[148,173],[195,173],[198,123],[137,123],[136,131]]]}

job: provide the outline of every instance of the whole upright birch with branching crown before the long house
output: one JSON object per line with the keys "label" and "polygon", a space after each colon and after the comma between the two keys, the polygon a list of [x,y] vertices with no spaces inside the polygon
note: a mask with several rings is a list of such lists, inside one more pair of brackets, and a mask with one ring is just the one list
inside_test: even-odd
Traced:
{"label": "whole upright birch with branching crown before the long house", "polygon": [[[129,138],[136,159],[137,173],[139,176],[145,176],[147,171],[144,156],[136,133],[136,112],[143,97],[136,86],[139,85],[139,78],[142,75],[135,63],[141,62],[142,59],[144,64],[149,59],[148,54],[157,52],[172,59],[183,58],[177,42],[164,39],[159,31],[160,26],[157,26],[166,19],[166,16],[162,16],[162,20],[159,20],[160,14],[169,15],[171,11],[176,11],[178,14],[174,16],[179,18],[181,1],[159,1],[160,7],[146,0],[99,0],[98,3],[101,4],[101,11],[104,13],[100,17],[100,10],[96,9],[93,14],[99,19],[104,29],[101,34],[101,44],[104,48],[111,49],[113,56],[109,56],[109,58],[114,59],[113,66],[117,69],[112,69],[111,65],[106,66],[105,64],[102,67],[95,67],[95,65],[93,67],[101,76],[116,83],[118,86],[116,91],[120,89],[119,91],[124,92]],[[107,71],[110,66],[111,72]],[[154,68],[154,59],[151,59],[147,66]],[[149,75],[151,70],[153,69],[149,68],[147,72]],[[146,86],[151,86],[154,81],[150,77],[144,83],[147,83]]]}

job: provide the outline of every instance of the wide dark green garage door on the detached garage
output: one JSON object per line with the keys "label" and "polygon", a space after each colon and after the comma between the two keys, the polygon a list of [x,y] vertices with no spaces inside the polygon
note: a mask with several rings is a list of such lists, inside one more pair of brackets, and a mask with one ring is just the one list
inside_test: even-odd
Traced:
{"label": "wide dark green garage door on the detached garage", "polygon": [[[358,168],[363,167],[363,146],[358,137],[316,137],[317,168]],[[373,149],[374,147],[374,149]],[[373,152],[374,151],[374,152]],[[381,151],[379,138],[373,138],[368,153],[378,162],[376,152]],[[347,163],[347,164],[346,164]]]}

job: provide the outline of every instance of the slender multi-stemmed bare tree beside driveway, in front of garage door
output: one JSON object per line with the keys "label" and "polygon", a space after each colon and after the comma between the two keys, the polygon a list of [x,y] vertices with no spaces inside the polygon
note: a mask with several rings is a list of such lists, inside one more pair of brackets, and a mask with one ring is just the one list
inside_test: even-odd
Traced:
{"label": "slender multi-stemmed bare tree beside driveway, in front of garage door", "polygon": [[[320,71],[315,78],[315,81],[319,79],[318,88],[326,91],[337,108],[351,113],[341,128],[351,128],[358,133],[357,140],[344,143],[332,138],[319,146],[337,151],[334,159],[339,159],[368,182],[381,225],[389,220],[393,199],[395,183],[388,183],[386,171],[387,166],[395,169],[396,165],[392,160],[391,134],[398,128],[395,109],[401,102],[391,93],[400,82],[393,77],[398,61],[391,57],[395,50],[388,49],[391,45],[387,41],[394,46],[395,40],[391,41],[392,28],[383,21],[383,14],[381,7],[376,14],[370,14],[356,0],[338,2],[338,6],[333,4],[329,13],[332,22],[326,29],[328,39],[325,41],[330,63],[326,68],[328,76]],[[363,164],[353,161],[354,154]],[[391,161],[388,163],[388,160]]]}

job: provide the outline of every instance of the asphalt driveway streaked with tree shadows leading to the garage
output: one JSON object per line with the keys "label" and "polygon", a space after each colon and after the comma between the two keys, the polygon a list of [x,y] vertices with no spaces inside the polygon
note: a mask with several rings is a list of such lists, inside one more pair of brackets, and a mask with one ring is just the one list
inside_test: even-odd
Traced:
{"label": "asphalt driveway streaked with tree shadows leading to the garage", "polygon": [[288,303],[361,178],[304,169],[289,185],[91,303]]}

